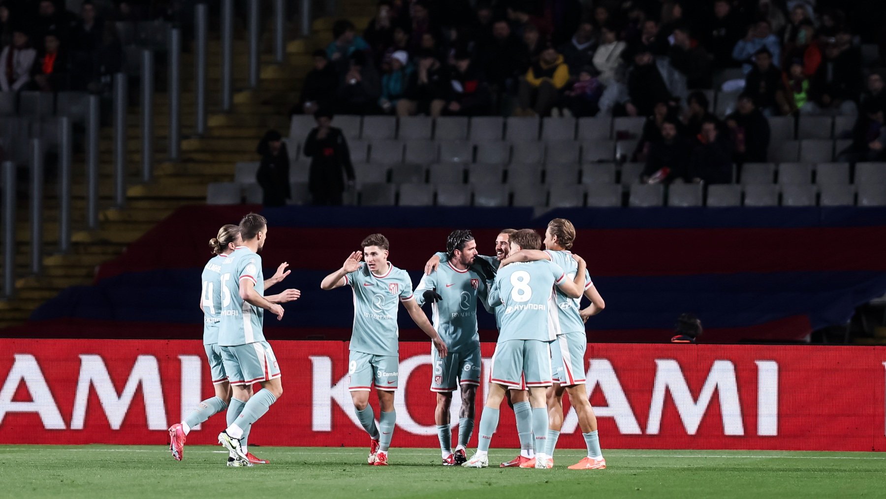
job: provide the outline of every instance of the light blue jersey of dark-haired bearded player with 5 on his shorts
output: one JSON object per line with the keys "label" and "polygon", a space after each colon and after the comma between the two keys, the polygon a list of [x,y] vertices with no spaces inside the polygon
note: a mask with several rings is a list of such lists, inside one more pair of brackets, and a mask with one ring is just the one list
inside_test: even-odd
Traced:
{"label": "light blue jersey of dark-haired bearded player with 5 on his shorts", "polygon": [[[477,295],[480,277],[470,269],[455,269],[449,262],[423,276],[416,287],[416,302],[424,305],[423,293],[436,288],[442,300],[431,305],[434,329],[450,352],[474,351],[480,347],[477,333]],[[485,286],[484,286],[485,287]]]}

